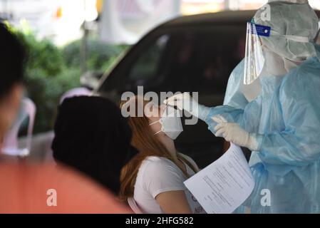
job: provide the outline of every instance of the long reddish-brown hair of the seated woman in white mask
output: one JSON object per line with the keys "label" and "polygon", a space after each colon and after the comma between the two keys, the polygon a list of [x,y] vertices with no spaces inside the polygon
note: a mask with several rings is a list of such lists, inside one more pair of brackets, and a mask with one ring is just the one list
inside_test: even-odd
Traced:
{"label": "long reddish-brown hair of the seated woman in white mask", "polygon": [[[135,96],[134,99],[135,102],[135,114],[137,114],[139,101],[138,96]],[[126,101],[120,102],[120,108],[124,108],[124,104]],[[143,108],[145,108],[145,105],[148,103],[148,101],[143,100]],[[129,107],[130,108],[130,107]],[[130,110],[129,110],[130,111]],[[126,200],[129,197],[133,197],[133,193],[135,190],[135,180],[138,175],[138,171],[140,168],[140,165],[142,164],[143,160],[149,156],[156,156],[156,157],[165,157],[168,160],[171,160],[172,162],[177,165],[177,167],[182,170],[184,175],[186,177],[190,177],[190,175],[183,170],[177,160],[175,160],[174,157],[170,154],[169,150],[165,147],[165,145],[158,140],[156,135],[154,135],[153,131],[150,128],[148,118],[145,116],[145,113],[143,113],[142,117],[138,117],[138,115],[135,115],[135,117],[129,117],[128,123],[133,131],[133,138],[131,140],[131,145],[133,145],[135,148],[139,150],[138,155],[135,155],[130,162],[128,162],[125,167],[123,167],[120,175],[120,199]],[[179,155],[177,153],[177,157],[180,160],[183,160],[189,167],[192,168],[195,172],[197,172],[196,168],[193,167],[190,162],[185,160],[184,157]]]}

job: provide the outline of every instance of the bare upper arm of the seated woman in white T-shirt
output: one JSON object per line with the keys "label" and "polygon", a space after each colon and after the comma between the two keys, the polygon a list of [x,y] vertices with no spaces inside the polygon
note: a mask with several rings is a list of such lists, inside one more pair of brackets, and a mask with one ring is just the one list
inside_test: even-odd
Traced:
{"label": "bare upper arm of the seated woman in white T-shirt", "polygon": [[[165,214],[191,214],[185,191],[162,192],[155,197]],[[173,203],[174,202],[174,203]]]}

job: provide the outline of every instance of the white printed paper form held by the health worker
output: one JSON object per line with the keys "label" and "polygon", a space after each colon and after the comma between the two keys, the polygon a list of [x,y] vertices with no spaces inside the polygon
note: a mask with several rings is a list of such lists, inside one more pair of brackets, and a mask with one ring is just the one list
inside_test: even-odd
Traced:
{"label": "white printed paper form held by the health worker", "polygon": [[185,186],[208,214],[229,214],[249,197],[254,178],[241,148],[231,143],[224,155],[186,180]]}

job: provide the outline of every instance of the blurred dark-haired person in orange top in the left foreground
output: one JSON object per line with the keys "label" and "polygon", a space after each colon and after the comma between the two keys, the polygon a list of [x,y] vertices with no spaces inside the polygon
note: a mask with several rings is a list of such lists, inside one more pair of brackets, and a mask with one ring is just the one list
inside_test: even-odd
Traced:
{"label": "blurred dark-haired person in orange top in the left foreground", "polygon": [[[0,22],[0,149],[23,94],[24,47]],[[0,151],[0,213],[130,213],[102,186],[63,165],[6,162]]]}

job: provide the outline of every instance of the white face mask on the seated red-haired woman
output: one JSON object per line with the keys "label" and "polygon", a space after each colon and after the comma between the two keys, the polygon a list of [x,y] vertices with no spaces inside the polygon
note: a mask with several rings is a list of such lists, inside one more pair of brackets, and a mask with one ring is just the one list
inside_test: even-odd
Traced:
{"label": "white face mask on the seated red-haired woman", "polygon": [[172,140],[175,140],[183,131],[180,112],[170,106],[165,108],[160,120],[150,123],[150,125],[158,122],[162,125],[158,133],[163,132]]}

